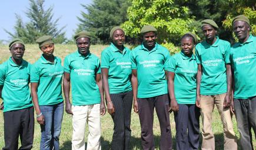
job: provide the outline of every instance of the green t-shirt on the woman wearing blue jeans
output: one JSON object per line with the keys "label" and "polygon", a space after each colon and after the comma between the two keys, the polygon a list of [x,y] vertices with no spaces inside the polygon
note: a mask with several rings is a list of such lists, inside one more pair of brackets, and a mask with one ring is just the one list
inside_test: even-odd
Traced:
{"label": "green t-shirt on the woman wearing blue jeans", "polygon": [[30,71],[30,81],[38,83],[38,103],[39,105],[54,105],[63,101],[62,98],[62,75],[64,68],[61,59],[54,57],[54,63],[46,61],[41,56]]}

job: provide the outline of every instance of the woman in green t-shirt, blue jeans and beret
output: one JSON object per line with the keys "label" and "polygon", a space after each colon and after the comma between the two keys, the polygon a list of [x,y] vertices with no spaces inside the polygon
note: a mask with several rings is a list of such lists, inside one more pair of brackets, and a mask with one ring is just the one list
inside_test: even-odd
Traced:
{"label": "woman in green t-shirt, blue jeans and beret", "polygon": [[41,57],[31,67],[31,95],[36,111],[36,120],[41,126],[40,149],[59,149],[59,135],[64,111],[62,98],[61,59],[54,56],[51,36],[36,39]]}

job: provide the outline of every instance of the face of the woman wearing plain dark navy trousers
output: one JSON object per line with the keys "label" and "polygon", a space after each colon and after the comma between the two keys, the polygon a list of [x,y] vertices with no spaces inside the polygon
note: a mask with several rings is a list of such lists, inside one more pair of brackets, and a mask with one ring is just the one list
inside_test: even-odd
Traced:
{"label": "face of the woman wearing plain dark navy trousers", "polygon": [[189,55],[192,54],[193,48],[194,48],[194,42],[193,42],[193,38],[186,36],[184,38],[181,39],[181,48],[182,48],[182,52],[185,55]]}

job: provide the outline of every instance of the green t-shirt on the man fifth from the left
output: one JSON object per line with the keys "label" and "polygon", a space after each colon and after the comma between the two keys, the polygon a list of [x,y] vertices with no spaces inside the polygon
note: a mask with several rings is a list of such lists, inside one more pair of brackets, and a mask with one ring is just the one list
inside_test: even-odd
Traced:
{"label": "green t-shirt on the man fifth from the left", "polygon": [[168,60],[168,49],[159,44],[155,44],[151,51],[143,44],[132,50],[132,69],[137,69],[138,98],[151,98],[168,93],[165,79]]}

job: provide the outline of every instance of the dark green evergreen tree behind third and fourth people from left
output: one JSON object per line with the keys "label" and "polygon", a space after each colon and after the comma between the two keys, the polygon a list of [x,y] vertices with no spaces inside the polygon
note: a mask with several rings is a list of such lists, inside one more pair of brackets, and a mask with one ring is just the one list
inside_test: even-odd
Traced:
{"label": "dark green evergreen tree behind third and fourth people from left", "polygon": [[110,30],[127,20],[127,0],[93,0],[91,5],[81,5],[88,13],[81,11],[76,32],[90,32],[93,43],[107,43]]}

